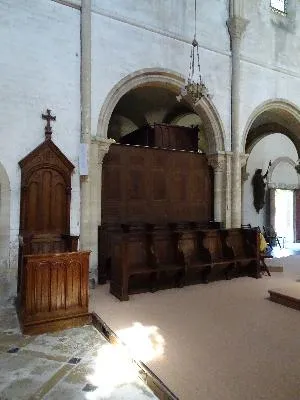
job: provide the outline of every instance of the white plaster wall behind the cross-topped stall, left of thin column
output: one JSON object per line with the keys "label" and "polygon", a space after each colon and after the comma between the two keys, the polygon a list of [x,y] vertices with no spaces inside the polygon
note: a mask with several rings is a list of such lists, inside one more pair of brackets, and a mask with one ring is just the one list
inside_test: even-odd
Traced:
{"label": "white plaster wall behind the cross-topped stall, left of thin column", "polygon": [[0,162],[11,185],[10,263],[17,267],[18,162],[44,140],[41,113],[53,110],[53,141],[76,165],[71,232],[79,234],[80,13],[49,0],[0,0]]}

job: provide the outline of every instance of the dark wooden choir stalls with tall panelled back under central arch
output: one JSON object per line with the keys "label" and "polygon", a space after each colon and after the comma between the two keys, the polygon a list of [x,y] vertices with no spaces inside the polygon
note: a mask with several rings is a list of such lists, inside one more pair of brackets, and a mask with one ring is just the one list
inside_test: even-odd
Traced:
{"label": "dark wooden choir stalls with tall panelled back under central arch", "polygon": [[[110,146],[102,172],[99,283],[144,291],[259,276],[256,229],[213,221],[213,171],[197,129],[155,124]],[[186,147],[187,150],[183,148]]]}

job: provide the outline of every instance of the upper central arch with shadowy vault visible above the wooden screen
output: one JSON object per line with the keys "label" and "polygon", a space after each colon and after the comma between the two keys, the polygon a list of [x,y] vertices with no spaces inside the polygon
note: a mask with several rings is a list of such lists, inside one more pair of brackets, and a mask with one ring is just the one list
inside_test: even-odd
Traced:
{"label": "upper central arch with shadowy vault visible above the wooden screen", "polygon": [[203,97],[196,104],[188,98],[177,102],[176,96],[183,84],[181,75],[165,69],[144,69],[123,78],[101,108],[97,138],[115,138],[120,129],[125,134],[145,123],[178,125],[181,117],[190,114],[191,120],[185,119],[184,124],[199,122],[201,145],[206,146],[206,152],[224,151],[225,130],[212,101]]}

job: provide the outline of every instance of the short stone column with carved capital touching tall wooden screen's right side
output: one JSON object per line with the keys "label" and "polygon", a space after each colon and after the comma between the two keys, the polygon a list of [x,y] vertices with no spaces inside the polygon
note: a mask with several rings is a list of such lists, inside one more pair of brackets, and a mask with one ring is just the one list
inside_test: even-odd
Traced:
{"label": "short stone column with carved capital touching tall wooden screen's right side", "polygon": [[209,154],[207,159],[214,170],[214,221],[223,222],[225,153]]}

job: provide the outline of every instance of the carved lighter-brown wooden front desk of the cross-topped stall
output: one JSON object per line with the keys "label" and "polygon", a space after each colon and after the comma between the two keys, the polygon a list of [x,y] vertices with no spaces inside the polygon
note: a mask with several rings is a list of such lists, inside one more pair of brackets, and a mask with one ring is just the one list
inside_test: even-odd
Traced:
{"label": "carved lighter-brown wooden front desk of the cross-topped stall", "polygon": [[24,256],[20,313],[24,333],[47,331],[50,325],[51,330],[60,329],[68,320],[88,316],[89,254]]}

